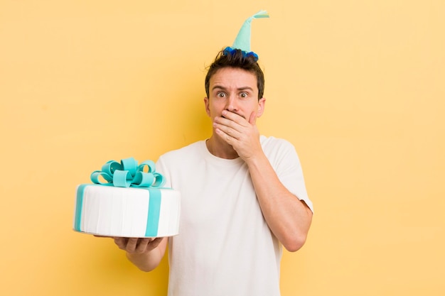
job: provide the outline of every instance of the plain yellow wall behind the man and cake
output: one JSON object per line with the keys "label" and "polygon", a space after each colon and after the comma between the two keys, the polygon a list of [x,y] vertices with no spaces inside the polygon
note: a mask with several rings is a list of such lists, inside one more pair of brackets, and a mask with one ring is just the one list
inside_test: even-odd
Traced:
{"label": "plain yellow wall behind the man and cake", "polygon": [[75,185],[210,136],[205,66],[259,9],[259,129],[316,209],[282,295],[445,294],[444,1],[0,0],[0,295],[165,295],[71,230]]}

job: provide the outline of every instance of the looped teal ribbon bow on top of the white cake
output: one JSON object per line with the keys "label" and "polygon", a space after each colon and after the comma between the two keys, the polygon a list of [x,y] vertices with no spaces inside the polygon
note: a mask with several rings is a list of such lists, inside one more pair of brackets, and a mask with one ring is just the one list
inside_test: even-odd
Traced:
{"label": "looped teal ribbon bow on top of the white cake", "polygon": [[138,165],[134,158],[125,158],[120,163],[109,160],[102,165],[102,170],[92,172],[90,179],[95,184],[114,187],[161,187],[165,182],[163,175],[156,172],[153,161],[145,160]]}

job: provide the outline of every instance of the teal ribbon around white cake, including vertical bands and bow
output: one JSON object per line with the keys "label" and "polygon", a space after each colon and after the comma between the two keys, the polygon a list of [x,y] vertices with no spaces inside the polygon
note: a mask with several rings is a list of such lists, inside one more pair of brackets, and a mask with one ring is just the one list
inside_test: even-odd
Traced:
{"label": "teal ribbon around white cake, including vertical bands and bow", "polygon": [[[146,171],[145,171],[146,170]],[[103,178],[102,181],[100,177]],[[145,236],[153,237],[158,234],[159,214],[161,211],[161,186],[165,182],[163,175],[155,170],[151,160],[145,160],[138,165],[134,158],[125,158],[121,162],[109,160],[102,165],[102,170],[92,172],[90,179],[96,185],[114,187],[138,187],[149,190],[149,212],[146,221]],[[83,192],[88,185],[80,185],[77,189],[75,230],[80,230],[82,216]]]}

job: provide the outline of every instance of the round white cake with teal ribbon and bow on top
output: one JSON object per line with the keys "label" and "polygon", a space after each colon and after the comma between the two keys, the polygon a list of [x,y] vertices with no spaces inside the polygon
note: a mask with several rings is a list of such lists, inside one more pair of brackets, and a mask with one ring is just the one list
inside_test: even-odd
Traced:
{"label": "round white cake with teal ribbon and bow on top", "polygon": [[163,237],[179,230],[181,193],[162,187],[151,160],[110,160],[77,185],[73,229],[98,236]]}

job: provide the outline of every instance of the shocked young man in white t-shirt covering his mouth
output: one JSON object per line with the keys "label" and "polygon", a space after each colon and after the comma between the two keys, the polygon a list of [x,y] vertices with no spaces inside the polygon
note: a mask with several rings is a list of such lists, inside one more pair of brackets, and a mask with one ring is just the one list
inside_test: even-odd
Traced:
{"label": "shocked young man in white t-shirt covering his mouth", "polygon": [[168,295],[279,295],[282,246],[306,241],[312,204],[294,146],[260,136],[264,75],[257,57],[226,48],[205,78],[213,133],[159,158],[156,170],[181,191],[180,234],[116,238],[141,270],[159,265],[168,243]]}

